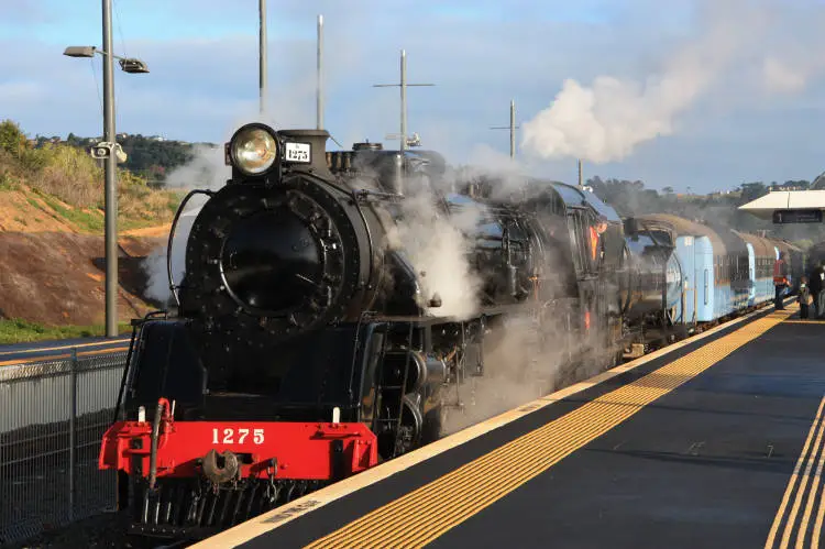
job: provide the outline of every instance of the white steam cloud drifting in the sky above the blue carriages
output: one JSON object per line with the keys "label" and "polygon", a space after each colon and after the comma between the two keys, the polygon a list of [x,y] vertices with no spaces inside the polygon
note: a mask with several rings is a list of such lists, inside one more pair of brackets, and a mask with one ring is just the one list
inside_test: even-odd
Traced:
{"label": "white steam cloud drifting in the sky above the blue carriages", "polygon": [[781,18],[781,7],[771,12],[768,4],[696,2],[702,31],[671,55],[660,73],[642,81],[598,76],[591,86],[564,80],[550,107],[524,123],[522,147],[546,160],[622,161],[640,144],[675,133],[681,114],[752,62],[769,91],[800,90],[813,67],[807,63],[807,72],[792,68],[766,52],[787,48],[766,37]]}

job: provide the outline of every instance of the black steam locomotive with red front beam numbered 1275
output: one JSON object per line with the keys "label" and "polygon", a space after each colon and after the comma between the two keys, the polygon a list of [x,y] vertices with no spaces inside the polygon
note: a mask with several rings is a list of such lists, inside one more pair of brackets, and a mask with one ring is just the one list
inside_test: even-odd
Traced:
{"label": "black steam locomotive with red front beam numbered 1275", "polygon": [[[672,311],[679,243],[626,234],[585,189],[457,174],[432,151],[327,152],[328,138],[246,124],[227,185],[180,205],[169,254],[189,199],[208,198],[183,281],[168,257],[175,306],[133,322],[100,451],[132,534],[208,536],[435,440],[513,319],[576,372],[694,310]],[[472,287],[422,267],[422,227],[461,243],[448,259]]]}

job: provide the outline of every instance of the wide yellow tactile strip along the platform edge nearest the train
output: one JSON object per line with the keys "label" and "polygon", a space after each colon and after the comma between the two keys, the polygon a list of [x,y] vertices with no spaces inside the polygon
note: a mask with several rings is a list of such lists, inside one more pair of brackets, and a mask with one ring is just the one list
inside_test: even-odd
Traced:
{"label": "wide yellow tactile strip along the platform edge nearest the train", "polygon": [[771,312],[350,523],[309,548],[424,547],[788,319]]}

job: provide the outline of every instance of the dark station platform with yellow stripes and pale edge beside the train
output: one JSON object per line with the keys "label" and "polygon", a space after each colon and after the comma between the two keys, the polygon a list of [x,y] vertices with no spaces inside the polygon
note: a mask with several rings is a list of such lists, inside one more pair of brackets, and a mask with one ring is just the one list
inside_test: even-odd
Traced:
{"label": "dark station platform with yellow stripes and pale edge beside the train", "polygon": [[817,547],[825,321],[768,307],[197,548]]}

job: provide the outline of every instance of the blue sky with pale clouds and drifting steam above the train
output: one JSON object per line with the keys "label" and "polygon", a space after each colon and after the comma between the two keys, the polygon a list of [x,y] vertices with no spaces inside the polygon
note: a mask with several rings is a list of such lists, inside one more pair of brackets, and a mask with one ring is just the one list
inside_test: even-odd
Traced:
{"label": "blue sky with pale clouds and drifting steam above the train", "polygon": [[[820,0],[267,3],[278,127],[315,125],[322,13],[324,121],[345,146],[398,131],[397,89],[372,84],[397,80],[405,48],[409,81],[437,85],[408,90],[409,131],[454,163],[507,154],[507,132],[488,128],[515,99],[519,162],[562,180],[580,155],[585,175],[694,191],[825,169]],[[257,118],[256,0],[114,0],[114,15],[116,53],[151,70],[116,74],[118,131],[222,142]],[[61,55],[100,35],[98,0],[0,2],[0,119],[100,134],[100,57]]]}

